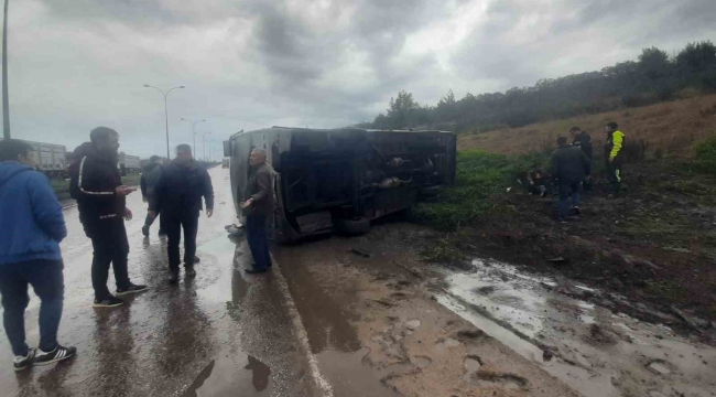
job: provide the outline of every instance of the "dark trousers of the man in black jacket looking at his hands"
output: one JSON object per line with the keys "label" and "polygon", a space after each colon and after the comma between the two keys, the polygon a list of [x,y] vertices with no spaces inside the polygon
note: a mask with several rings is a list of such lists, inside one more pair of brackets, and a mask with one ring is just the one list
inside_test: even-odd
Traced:
{"label": "dark trousers of the man in black jacket looking at his hands", "polygon": [[93,240],[93,248],[95,249],[95,256],[93,257],[95,298],[102,300],[110,296],[107,288],[110,265],[115,270],[117,288],[129,287],[129,275],[127,272],[129,242],[127,240],[124,221],[119,218],[87,224],[85,225],[85,234]]}

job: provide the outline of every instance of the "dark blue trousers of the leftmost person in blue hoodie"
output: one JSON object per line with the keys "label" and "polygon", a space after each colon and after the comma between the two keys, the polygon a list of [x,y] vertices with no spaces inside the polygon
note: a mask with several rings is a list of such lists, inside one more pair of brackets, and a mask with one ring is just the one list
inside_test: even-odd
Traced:
{"label": "dark blue trousers of the leftmost person in blue hoodie", "polygon": [[28,355],[25,343],[25,309],[30,302],[28,285],[40,297],[40,348],[52,352],[57,347],[57,328],[62,318],[65,292],[62,260],[36,259],[0,265],[0,293],[4,308],[3,324],[12,353]]}

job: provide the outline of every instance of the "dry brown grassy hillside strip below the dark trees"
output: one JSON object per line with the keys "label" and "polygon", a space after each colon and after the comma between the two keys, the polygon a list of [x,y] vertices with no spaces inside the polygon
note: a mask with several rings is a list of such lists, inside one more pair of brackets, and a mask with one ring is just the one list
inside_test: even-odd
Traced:
{"label": "dry brown grassy hillside strip below the dark trees", "polygon": [[595,154],[599,155],[605,140],[604,126],[609,121],[618,122],[629,140],[643,140],[648,144],[648,154],[661,152],[665,155],[691,157],[693,143],[716,130],[716,95],[521,128],[463,133],[458,139],[458,150],[480,149],[503,154],[550,151],[555,148],[558,136],[568,136],[569,128],[578,126],[592,135]]}

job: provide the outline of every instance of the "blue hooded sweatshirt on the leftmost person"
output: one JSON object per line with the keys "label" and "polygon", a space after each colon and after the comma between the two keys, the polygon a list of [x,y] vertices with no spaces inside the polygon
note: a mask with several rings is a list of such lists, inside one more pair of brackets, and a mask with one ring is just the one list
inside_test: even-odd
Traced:
{"label": "blue hooded sweatshirt on the leftmost person", "polygon": [[0,162],[0,268],[59,260],[67,236],[62,206],[47,178],[17,161]]}

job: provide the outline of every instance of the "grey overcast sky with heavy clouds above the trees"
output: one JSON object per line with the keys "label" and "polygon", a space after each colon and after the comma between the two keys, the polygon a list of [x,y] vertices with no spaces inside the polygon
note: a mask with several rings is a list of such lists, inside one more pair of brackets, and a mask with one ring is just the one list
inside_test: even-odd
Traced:
{"label": "grey overcast sky with heavy clouds above the trees", "polygon": [[[122,148],[273,125],[372,120],[398,90],[434,105],[716,41],[715,0],[10,0],[13,138]],[[202,155],[200,136],[197,151]]]}

